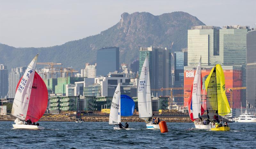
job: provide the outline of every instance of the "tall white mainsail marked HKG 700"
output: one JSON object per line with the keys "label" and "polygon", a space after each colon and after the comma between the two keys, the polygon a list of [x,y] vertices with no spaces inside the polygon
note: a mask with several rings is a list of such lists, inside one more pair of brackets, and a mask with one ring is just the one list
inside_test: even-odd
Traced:
{"label": "tall white mainsail marked HKG 700", "polygon": [[138,86],[138,109],[140,118],[152,117],[148,56],[146,56],[140,73]]}

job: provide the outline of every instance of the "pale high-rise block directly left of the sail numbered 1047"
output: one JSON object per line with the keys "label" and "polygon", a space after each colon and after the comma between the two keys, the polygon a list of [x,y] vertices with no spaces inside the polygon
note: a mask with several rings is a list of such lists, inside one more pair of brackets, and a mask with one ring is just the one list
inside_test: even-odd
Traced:
{"label": "pale high-rise block directly left of the sail numbered 1047", "polygon": [[20,81],[20,78],[23,76],[23,74],[26,71],[26,67],[16,67],[12,68],[11,73],[8,75],[8,98],[14,98],[16,93],[16,87],[18,82]]}

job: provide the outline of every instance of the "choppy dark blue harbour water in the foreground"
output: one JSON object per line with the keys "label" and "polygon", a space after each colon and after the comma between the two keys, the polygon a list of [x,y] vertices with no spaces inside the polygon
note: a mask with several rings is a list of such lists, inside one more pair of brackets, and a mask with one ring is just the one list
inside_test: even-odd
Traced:
{"label": "choppy dark blue harbour water in the foreground", "polygon": [[167,123],[164,134],[140,122],[129,123],[135,130],[114,130],[107,122],[40,122],[47,129],[22,130],[12,123],[0,122],[0,148],[256,148],[256,123],[231,123],[229,132]]}

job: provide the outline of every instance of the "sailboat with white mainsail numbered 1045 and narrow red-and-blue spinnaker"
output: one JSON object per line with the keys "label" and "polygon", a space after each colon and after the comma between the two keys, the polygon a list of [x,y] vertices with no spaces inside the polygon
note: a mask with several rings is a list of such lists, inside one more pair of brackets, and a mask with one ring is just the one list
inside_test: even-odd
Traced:
{"label": "sailboat with white mainsail numbered 1045 and narrow red-and-blue spinnaker", "polygon": [[191,94],[188,102],[188,112],[190,119],[194,122],[196,129],[210,129],[210,125],[204,125],[202,121],[196,121],[199,114],[204,114],[204,108],[201,105],[201,90],[202,90],[202,73],[201,73],[201,58],[196,68],[195,78],[191,88]]}

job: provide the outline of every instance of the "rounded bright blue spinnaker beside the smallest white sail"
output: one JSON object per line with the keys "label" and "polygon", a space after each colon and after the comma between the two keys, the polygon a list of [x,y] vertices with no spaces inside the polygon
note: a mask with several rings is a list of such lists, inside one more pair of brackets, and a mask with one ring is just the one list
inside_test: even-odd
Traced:
{"label": "rounded bright blue spinnaker beside the smallest white sail", "polygon": [[131,97],[121,95],[121,116],[132,116],[135,103]]}

